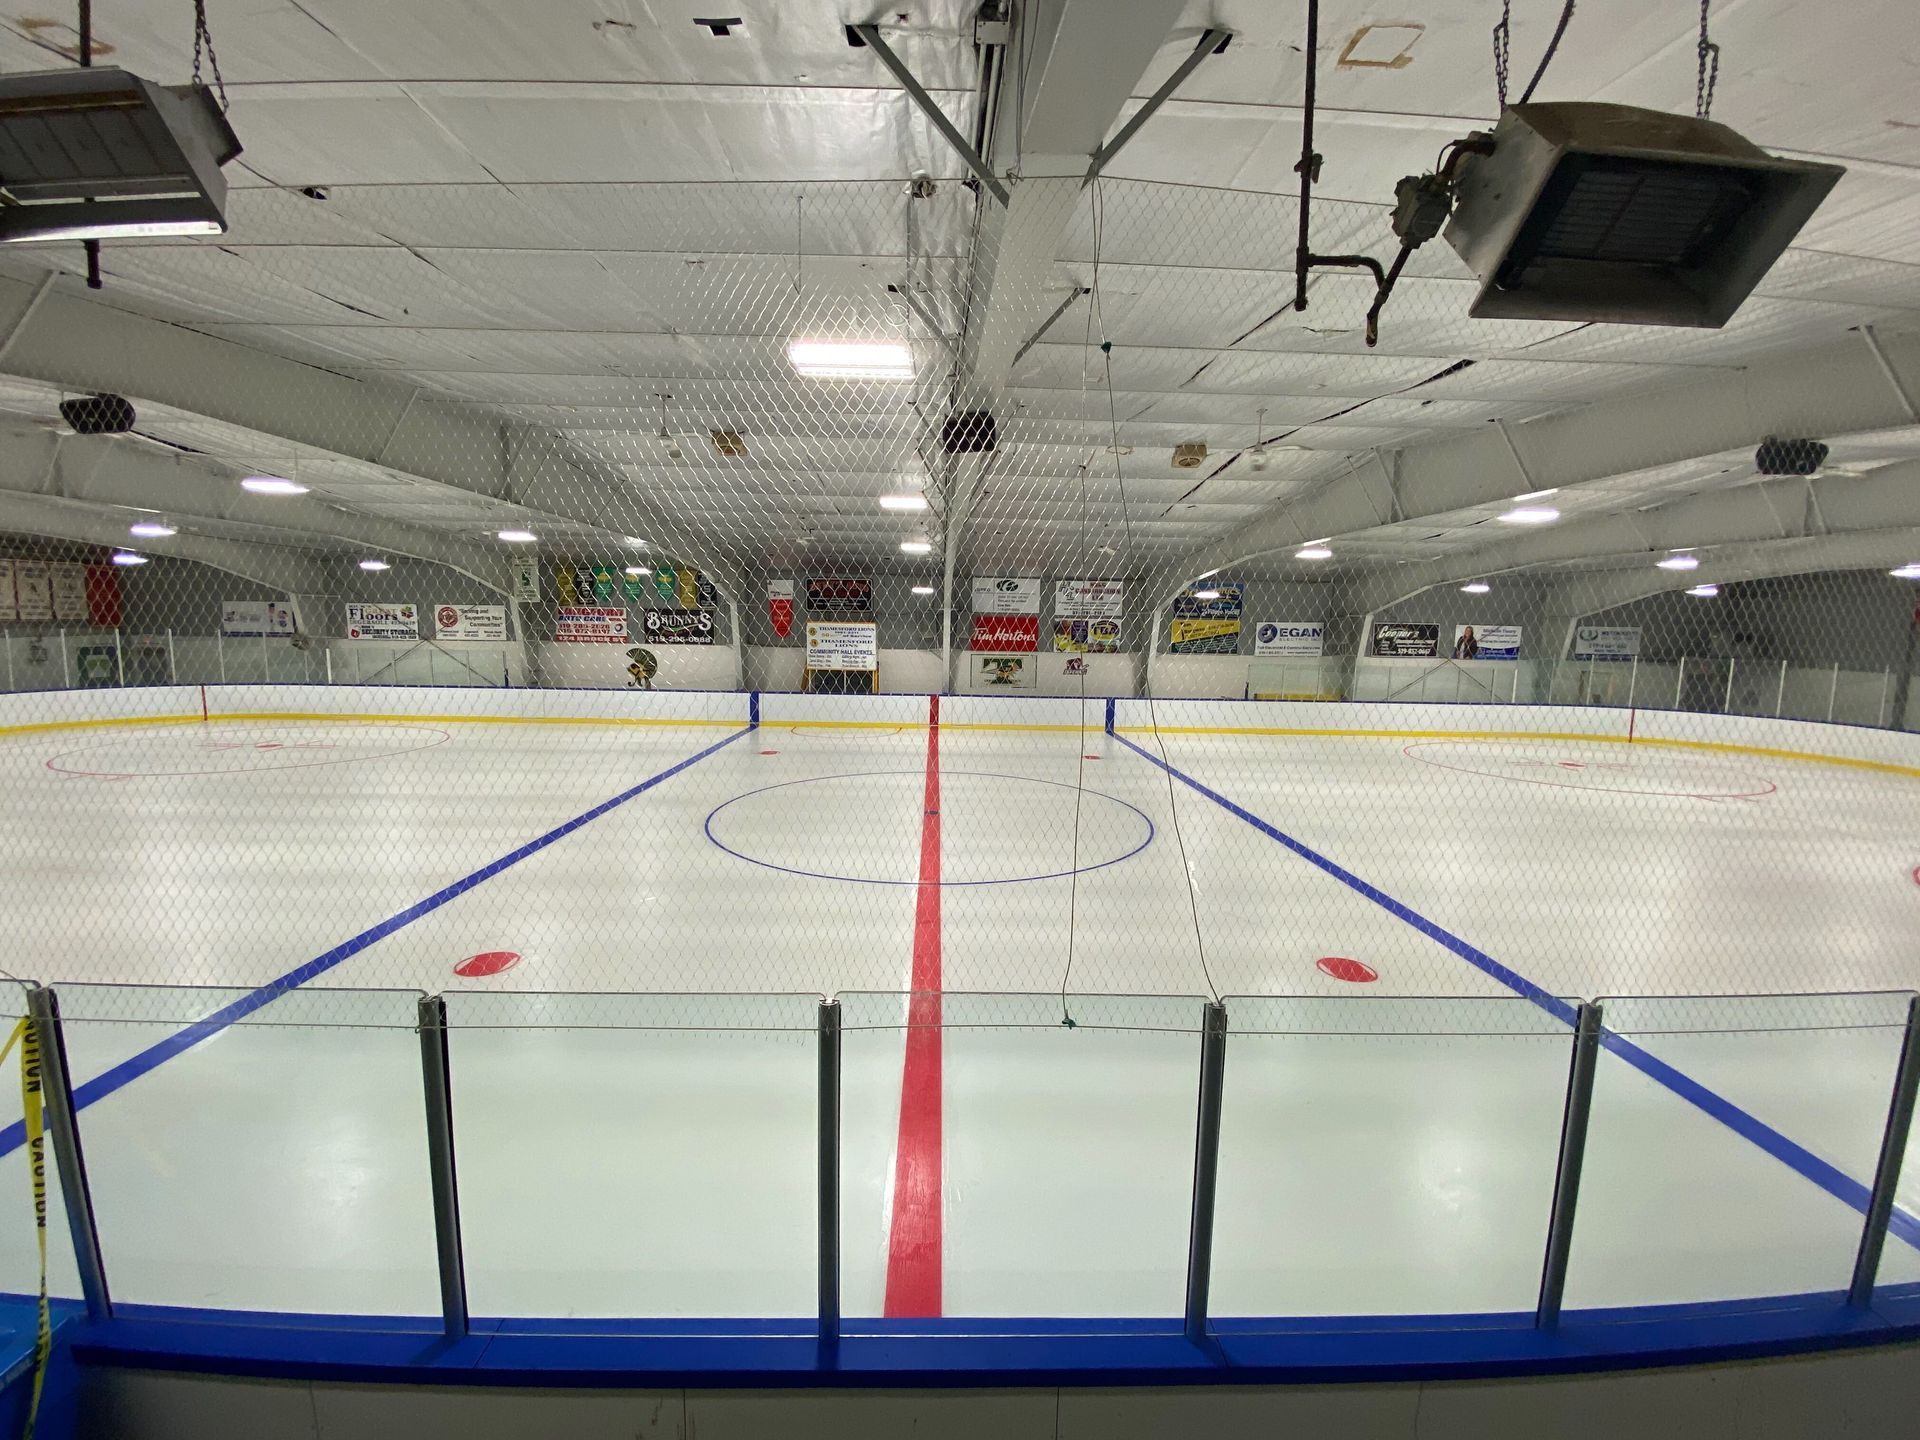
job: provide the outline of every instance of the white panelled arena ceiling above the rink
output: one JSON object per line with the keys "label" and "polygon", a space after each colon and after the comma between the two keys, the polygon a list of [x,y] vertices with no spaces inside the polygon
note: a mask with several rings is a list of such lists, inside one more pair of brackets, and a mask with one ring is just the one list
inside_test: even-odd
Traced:
{"label": "white panelled arena ceiling above the rink", "polygon": [[[1110,19],[1100,12],[1119,6],[1035,0],[1035,13],[1068,12],[1064,29],[1079,17],[1098,35]],[[1020,223],[1004,227],[983,221],[993,202],[960,182],[952,148],[843,31],[847,19],[877,19],[972,131],[973,6],[843,13],[739,0],[730,10],[743,23],[724,38],[695,25],[708,10],[695,0],[217,8],[230,121],[246,144],[228,167],[230,232],[109,244],[102,292],[81,288],[77,246],[10,248],[0,275],[38,284],[56,273],[58,294],[96,307],[300,361],[369,394],[417,390],[501,434],[553,436],[601,490],[582,482],[566,505],[516,503],[461,484],[468,457],[457,451],[432,474],[394,463],[386,447],[405,415],[384,442],[369,430],[363,445],[309,444],[300,409],[321,401],[298,386],[275,405],[242,407],[213,372],[182,372],[157,346],[125,357],[131,374],[115,380],[140,409],[142,436],[219,472],[298,468],[344,513],[474,543],[526,526],[559,549],[616,543],[630,534],[620,516],[632,499],[659,516],[662,545],[741,570],[899,561],[897,543],[918,534],[952,547],[962,572],[1177,570],[1183,557],[1350,484],[1380,455],[1603,403],[1632,413],[1636,397],[1847,344],[1862,326],[1920,332],[1910,84],[1920,42],[1893,4],[1715,8],[1715,117],[1772,150],[1847,167],[1726,328],[1471,321],[1475,282],[1436,242],[1417,252],[1375,349],[1361,340],[1371,286],[1357,276],[1317,275],[1309,307],[1286,309],[1298,6],[1160,0],[1158,38],[1117,88],[1119,56],[1018,52],[1008,84],[1041,92],[1079,63],[1089,90],[1108,84],[1117,121],[1206,25],[1235,35],[1085,190],[1077,177],[1025,175],[1031,136],[1002,125],[993,167],[1023,177]],[[1557,13],[1515,8],[1515,69],[1530,71]],[[1446,140],[1496,113],[1496,19],[1486,0],[1411,12],[1327,2],[1317,250],[1390,255],[1394,180],[1428,169]],[[98,38],[111,46],[102,63],[159,81],[192,67],[182,0],[102,4]],[[1655,0],[1582,10],[1542,94],[1686,109],[1695,38],[1692,13]],[[52,50],[71,44],[58,23],[0,21],[8,71],[65,65]],[[1100,119],[1094,132],[1110,131]],[[933,177],[929,198],[908,198],[914,173]],[[1048,207],[1052,228],[1031,221]],[[1020,286],[1000,276],[983,300],[983,271],[1012,271],[1016,259],[1031,261],[1031,275]],[[950,374],[989,323],[1035,344],[995,380],[993,461],[956,488],[929,470],[929,438],[954,403]],[[0,384],[0,411],[52,426],[60,396],[88,376],[73,357],[31,365],[46,344],[31,326],[0,351],[0,372],[13,376]],[[918,378],[795,376],[785,357],[795,336],[904,338]],[[1841,424],[1839,392],[1832,411],[1834,465],[1920,455],[1920,430]],[[735,430],[745,455],[720,455],[712,430]],[[1260,468],[1246,453],[1256,440],[1269,445]],[[1187,442],[1208,447],[1196,468],[1173,465]],[[1751,482],[1724,449],[1676,438],[1670,463],[1590,476],[1555,503],[1574,518]],[[470,459],[478,468],[478,451]],[[877,505],[922,488],[927,516]],[[1524,488],[1511,474],[1500,482],[1507,497]],[[1382,515],[1338,532],[1342,555],[1471,551],[1488,543],[1494,513],[1490,497]],[[219,516],[177,518],[223,538],[253,534]]]}

